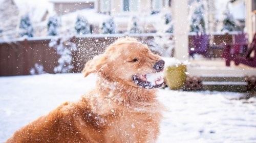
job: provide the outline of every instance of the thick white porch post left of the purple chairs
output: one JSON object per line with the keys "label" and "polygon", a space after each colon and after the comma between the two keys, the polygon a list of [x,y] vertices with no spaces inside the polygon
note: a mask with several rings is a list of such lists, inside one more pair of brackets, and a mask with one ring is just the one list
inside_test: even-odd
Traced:
{"label": "thick white porch post left of the purple chairs", "polygon": [[188,60],[188,2],[187,0],[173,0],[174,9],[174,41],[175,58]]}

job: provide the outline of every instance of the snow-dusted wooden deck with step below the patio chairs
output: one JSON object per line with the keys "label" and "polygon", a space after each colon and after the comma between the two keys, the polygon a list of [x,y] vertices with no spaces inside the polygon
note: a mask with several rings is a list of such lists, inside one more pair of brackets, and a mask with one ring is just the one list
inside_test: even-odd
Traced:
{"label": "snow-dusted wooden deck with step below the patio chairs", "polygon": [[248,90],[245,76],[256,76],[256,68],[231,63],[225,66],[222,59],[190,60],[187,65],[188,76],[197,76],[202,80],[203,90],[249,92],[255,96],[255,90]]}

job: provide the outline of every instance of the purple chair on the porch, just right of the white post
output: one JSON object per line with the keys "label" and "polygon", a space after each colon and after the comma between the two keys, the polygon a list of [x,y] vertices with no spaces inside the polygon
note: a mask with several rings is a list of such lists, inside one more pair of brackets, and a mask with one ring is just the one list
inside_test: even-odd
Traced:
{"label": "purple chair on the porch, just right of the white post", "polygon": [[194,35],[192,37],[192,43],[189,46],[189,55],[194,57],[194,54],[202,54],[207,57],[207,49],[209,46],[209,36],[208,35]]}

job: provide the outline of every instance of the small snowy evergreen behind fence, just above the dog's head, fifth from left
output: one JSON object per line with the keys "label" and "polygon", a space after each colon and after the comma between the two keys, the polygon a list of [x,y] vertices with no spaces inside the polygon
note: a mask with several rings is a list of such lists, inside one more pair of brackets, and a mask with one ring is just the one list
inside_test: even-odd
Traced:
{"label": "small snowy evergreen behind fence, just above the dog's head, fifth from left", "polygon": [[130,33],[142,33],[142,27],[139,25],[139,19],[136,16],[132,16],[128,23],[128,31]]}

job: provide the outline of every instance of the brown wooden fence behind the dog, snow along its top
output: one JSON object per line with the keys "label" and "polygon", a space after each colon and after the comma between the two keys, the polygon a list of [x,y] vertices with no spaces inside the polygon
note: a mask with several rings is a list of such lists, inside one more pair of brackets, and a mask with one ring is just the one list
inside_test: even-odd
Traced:
{"label": "brown wooden fence behind the dog, snow along its top", "polygon": [[[77,50],[72,53],[72,73],[81,72],[84,64],[93,58],[93,56],[102,53],[105,47],[113,43],[118,37],[125,35],[113,36],[94,36],[74,37],[72,42],[76,43]],[[217,44],[230,40],[230,35],[217,35],[214,40]],[[152,35],[139,36],[137,39],[152,38]],[[232,36],[231,36],[232,37]],[[29,38],[16,41],[0,41],[0,76],[11,75],[29,75],[30,70],[35,68],[35,64],[42,65],[47,73],[54,73],[54,67],[58,65],[60,55],[56,50],[49,47],[51,38],[36,39]],[[191,42],[191,38],[189,38]],[[221,49],[218,49],[221,50]]]}

